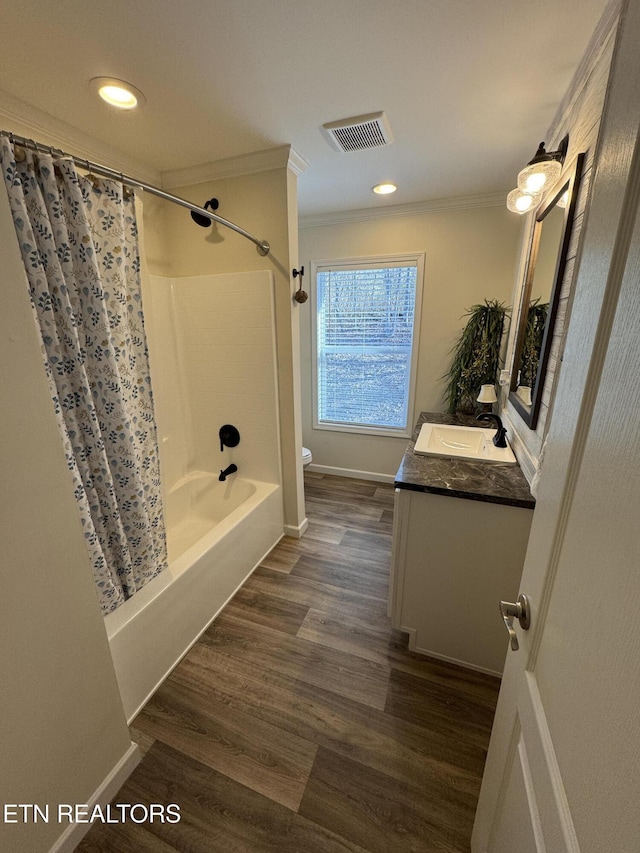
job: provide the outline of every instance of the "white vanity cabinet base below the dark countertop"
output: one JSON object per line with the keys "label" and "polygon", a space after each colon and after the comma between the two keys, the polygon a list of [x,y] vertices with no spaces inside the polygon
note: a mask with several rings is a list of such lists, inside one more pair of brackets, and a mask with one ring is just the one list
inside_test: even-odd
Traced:
{"label": "white vanity cabinet base below the dark countertop", "polygon": [[533,512],[396,489],[389,615],[412,651],[502,674]]}

